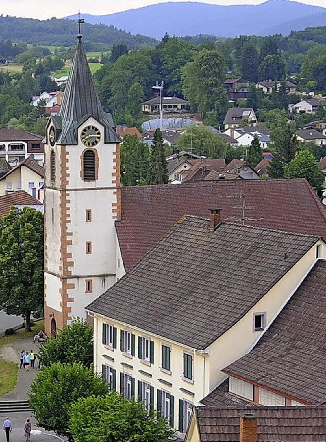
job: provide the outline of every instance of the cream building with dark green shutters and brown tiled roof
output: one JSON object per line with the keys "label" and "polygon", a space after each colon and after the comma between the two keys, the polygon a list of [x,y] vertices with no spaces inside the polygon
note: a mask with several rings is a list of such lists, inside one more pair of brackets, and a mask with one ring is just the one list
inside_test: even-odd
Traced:
{"label": "cream building with dark green shutters and brown tiled roof", "polygon": [[152,407],[185,433],[193,406],[259,341],[320,257],[326,245],[316,236],[221,222],[220,210],[185,215],[87,306],[94,370],[111,371],[106,380],[125,397],[146,399],[147,388]]}

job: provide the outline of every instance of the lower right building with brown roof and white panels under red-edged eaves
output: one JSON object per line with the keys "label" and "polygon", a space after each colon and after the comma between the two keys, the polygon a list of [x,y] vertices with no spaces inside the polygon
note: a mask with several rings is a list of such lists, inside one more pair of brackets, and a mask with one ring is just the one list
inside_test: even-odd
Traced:
{"label": "lower right building with brown roof and white panels under red-edged eaves", "polygon": [[201,402],[220,405],[237,399],[263,406],[326,405],[326,261],[317,261],[298,284],[274,322],[248,354],[225,367],[225,385]]}

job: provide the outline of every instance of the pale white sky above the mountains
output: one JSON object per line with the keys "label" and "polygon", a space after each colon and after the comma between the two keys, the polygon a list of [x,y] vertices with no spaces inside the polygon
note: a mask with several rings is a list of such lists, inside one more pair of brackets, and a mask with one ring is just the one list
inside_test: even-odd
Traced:
{"label": "pale white sky above the mountains", "polygon": [[[4,15],[15,15],[16,17],[51,18],[64,17],[66,15],[80,12],[93,15],[112,14],[113,12],[125,11],[132,8],[164,3],[165,0],[0,0],[0,11]],[[180,1],[180,0],[170,0]],[[186,1],[186,0],[181,0]],[[294,0],[291,0],[294,1]],[[326,0],[296,0],[307,5],[326,7]],[[216,5],[257,5],[262,0],[205,0],[202,3]]]}

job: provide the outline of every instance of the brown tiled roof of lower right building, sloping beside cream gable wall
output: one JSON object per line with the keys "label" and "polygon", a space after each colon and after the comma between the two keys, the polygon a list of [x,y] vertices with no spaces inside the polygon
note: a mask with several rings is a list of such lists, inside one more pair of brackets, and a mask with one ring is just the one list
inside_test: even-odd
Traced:
{"label": "brown tiled roof of lower right building, sloping beside cream gable wall", "polygon": [[326,261],[318,260],[255,348],[224,371],[322,405],[325,367]]}

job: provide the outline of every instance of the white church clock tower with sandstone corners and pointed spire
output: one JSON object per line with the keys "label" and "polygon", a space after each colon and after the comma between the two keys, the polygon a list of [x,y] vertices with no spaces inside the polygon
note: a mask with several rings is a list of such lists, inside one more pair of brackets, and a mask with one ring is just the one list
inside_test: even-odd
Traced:
{"label": "white church clock tower with sandstone corners and pointed spire", "polygon": [[78,35],[59,116],[45,144],[44,317],[46,333],[116,281],[120,139],[104,113]]}

